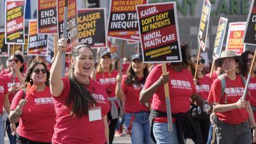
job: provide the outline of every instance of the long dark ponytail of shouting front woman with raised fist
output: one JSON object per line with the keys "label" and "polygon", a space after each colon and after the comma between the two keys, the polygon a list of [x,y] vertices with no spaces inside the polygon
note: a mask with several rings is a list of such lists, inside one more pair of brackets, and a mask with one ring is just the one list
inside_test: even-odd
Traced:
{"label": "long dark ponytail of shouting front woman with raised fist", "polygon": [[[74,58],[74,60],[76,60],[76,57],[79,55],[79,50],[82,48],[90,49],[92,51],[88,45],[77,45],[77,47],[75,47],[71,53],[71,57]],[[65,104],[67,106],[72,104],[70,115],[88,115],[88,109],[91,107],[91,104],[96,104],[97,102],[92,98],[92,93],[84,88],[84,84],[81,84],[79,81],[77,81],[76,77],[74,76],[74,65],[70,66],[68,77],[70,80],[70,92],[68,93],[68,99]]]}

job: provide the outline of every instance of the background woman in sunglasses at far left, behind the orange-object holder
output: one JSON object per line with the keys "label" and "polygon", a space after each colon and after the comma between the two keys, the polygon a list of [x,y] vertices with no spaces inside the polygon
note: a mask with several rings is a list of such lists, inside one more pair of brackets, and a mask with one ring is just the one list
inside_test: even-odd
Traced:
{"label": "background woman in sunglasses at far left, behind the orange-object holder", "polygon": [[[3,75],[5,87],[8,88],[8,90],[4,91],[4,95],[6,95],[6,98],[9,99],[11,104],[17,90],[24,82],[24,59],[20,54],[14,54],[10,56],[8,62],[12,71]],[[7,108],[9,109],[6,109],[6,112],[9,115],[10,105],[8,105]],[[15,144],[16,136],[12,136],[10,122],[8,119],[6,120],[6,132],[8,134],[10,144]]]}

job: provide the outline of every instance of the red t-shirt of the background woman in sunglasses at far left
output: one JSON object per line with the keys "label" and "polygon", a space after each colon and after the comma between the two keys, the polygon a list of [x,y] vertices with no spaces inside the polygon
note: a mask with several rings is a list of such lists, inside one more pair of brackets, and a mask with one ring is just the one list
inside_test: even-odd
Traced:
{"label": "red t-shirt of the background woman in sunglasses at far left", "polygon": [[[5,84],[6,84],[6,87],[9,89],[11,88],[12,86],[12,80],[13,80],[13,76],[11,73],[9,74],[4,74],[4,79],[5,79]],[[15,83],[16,83],[16,86],[19,88],[20,87],[20,82],[19,82],[19,79],[18,77],[16,76],[15,77]],[[8,89],[5,91],[5,94],[8,93]],[[8,96],[9,97],[9,100],[10,102],[12,102],[12,99],[13,97],[15,96],[16,92],[12,92],[10,93],[10,95]]]}

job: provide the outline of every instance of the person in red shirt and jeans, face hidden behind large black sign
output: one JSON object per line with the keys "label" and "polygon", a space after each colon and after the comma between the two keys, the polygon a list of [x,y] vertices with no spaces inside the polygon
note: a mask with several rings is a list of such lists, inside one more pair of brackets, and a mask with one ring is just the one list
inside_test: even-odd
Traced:
{"label": "person in red shirt and jeans, face hidden behind large black sign", "polygon": [[[193,76],[188,70],[190,63],[189,47],[187,44],[181,44],[180,48],[182,62],[166,65],[167,74],[162,73],[161,65],[154,67],[148,74],[145,85],[140,93],[140,102],[143,103],[148,102],[153,97],[150,111],[150,129],[152,130],[150,135],[156,143],[186,143],[184,136],[188,135],[184,134],[184,132],[189,129],[184,129],[181,125],[193,126],[191,125],[189,113],[191,101],[196,102],[198,106],[207,104],[196,93]],[[168,83],[170,91],[170,105],[173,115],[172,132],[168,131],[164,83]],[[191,131],[194,130],[191,129]]]}

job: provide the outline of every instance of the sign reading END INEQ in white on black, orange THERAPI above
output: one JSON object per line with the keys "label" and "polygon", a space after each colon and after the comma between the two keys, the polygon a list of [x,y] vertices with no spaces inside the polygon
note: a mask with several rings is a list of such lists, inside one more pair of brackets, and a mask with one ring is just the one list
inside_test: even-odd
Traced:
{"label": "sign reading END INEQ in white on black, orange THERAPI above", "polygon": [[37,0],[38,35],[57,33],[56,6],[56,0]]}

